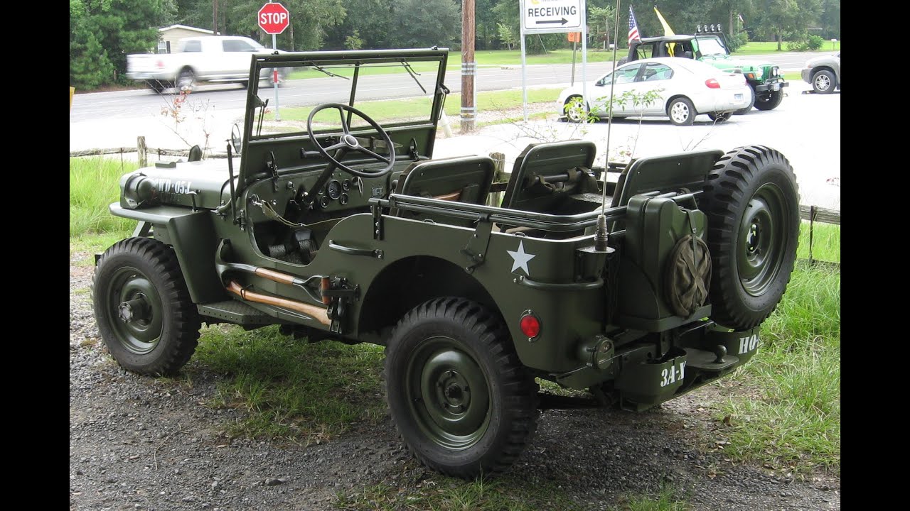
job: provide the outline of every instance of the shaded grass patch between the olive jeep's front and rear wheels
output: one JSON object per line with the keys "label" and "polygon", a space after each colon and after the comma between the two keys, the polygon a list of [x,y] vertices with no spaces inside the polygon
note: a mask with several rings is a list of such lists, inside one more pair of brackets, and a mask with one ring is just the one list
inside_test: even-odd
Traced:
{"label": "shaded grass patch between the olive jeep's front and rear wheels", "polygon": [[213,326],[203,330],[187,372],[193,377],[201,365],[219,375],[210,406],[243,412],[229,434],[308,444],[385,415],[382,358],[380,346],[308,344],[277,326]]}

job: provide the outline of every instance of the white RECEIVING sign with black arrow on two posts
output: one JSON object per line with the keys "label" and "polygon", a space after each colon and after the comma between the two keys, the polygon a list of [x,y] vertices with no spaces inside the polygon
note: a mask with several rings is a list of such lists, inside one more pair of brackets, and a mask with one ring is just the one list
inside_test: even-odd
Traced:
{"label": "white RECEIVING sign with black arrow on two posts", "polygon": [[[528,34],[581,32],[581,95],[588,97],[588,26],[585,0],[521,0],[521,103],[528,122],[528,61],[524,37]],[[573,68],[574,72],[574,68]],[[574,76],[572,77],[574,82]]]}

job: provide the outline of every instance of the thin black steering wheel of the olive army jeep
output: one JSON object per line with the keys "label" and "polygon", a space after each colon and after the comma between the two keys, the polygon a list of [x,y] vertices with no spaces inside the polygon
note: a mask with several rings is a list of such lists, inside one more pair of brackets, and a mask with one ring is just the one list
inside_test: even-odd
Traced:
{"label": "thin black steering wheel of the olive army jeep", "polygon": [[[339,111],[339,116],[341,118],[341,129],[344,131],[344,134],[341,135],[338,144],[323,147],[319,144],[319,141],[316,139],[316,135],[313,133],[313,117],[319,112],[327,110],[329,108],[334,108]],[[389,147],[389,157],[378,155],[363,145],[360,145],[357,137],[350,134],[350,127],[348,125],[348,121],[345,118],[345,112],[350,112],[354,115],[357,115],[376,130],[376,133],[378,133],[379,136],[382,137],[382,140],[386,143],[386,147]],[[335,165],[335,167],[340,168],[341,170],[351,175],[357,175],[359,177],[379,177],[389,174],[389,172],[391,172],[392,168],[395,166],[395,145],[392,144],[392,139],[389,137],[389,134],[386,133],[386,130],[382,129],[382,126],[378,125],[376,121],[369,118],[369,115],[360,112],[353,106],[342,105],[340,103],[326,103],[324,105],[319,105],[316,108],[313,108],[312,112],[309,113],[309,117],[307,119],[307,135],[309,135],[310,142],[316,146],[316,150],[319,151],[320,155],[323,155],[326,159],[329,160],[332,165]],[[350,151],[357,151],[359,153],[363,153],[364,155],[369,155],[373,159],[379,160],[380,162],[386,164],[386,166],[385,168],[379,169],[377,171],[364,171],[357,170],[356,168],[351,168],[339,161],[344,158],[344,155]],[[334,153],[335,155],[332,155],[330,153]]]}

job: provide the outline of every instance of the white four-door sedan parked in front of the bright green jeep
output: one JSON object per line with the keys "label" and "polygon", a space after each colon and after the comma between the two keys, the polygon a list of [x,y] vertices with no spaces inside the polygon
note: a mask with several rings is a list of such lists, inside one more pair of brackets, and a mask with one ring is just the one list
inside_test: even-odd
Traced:
{"label": "white four-door sedan parked in front of the bright green jeep", "polygon": [[750,105],[753,92],[741,73],[727,73],[688,58],[664,57],[620,65],[589,82],[586,94],[582,102],[581,84],[560,93],[557,103],[566,120],[606,118],[612,105],[614,117],[664,116],[674,125],[692,125],[696,115],[707,114],[720,122]]}

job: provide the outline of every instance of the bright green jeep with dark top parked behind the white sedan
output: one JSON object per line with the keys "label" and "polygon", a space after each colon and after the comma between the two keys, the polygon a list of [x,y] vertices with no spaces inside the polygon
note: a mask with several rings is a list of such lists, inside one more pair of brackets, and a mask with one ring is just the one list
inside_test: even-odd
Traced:
{"label": "bright green jeep with dark top parked behind the white sedan", "polygon": [[[678,56],[706,62],[728,73],[742,73],[753,90],[753,105],[759,110],[773,110],[784,100],[784,87],[788,86],[780,68],[773,64],[754,64],[734,59],[727,49],[726,39],[719,25],[698,25],[695,35],[662,35],[645,37],[629,45],[629,55],[620,64],[642,58]],[[752,105],[738,110],[747,114]]]}

